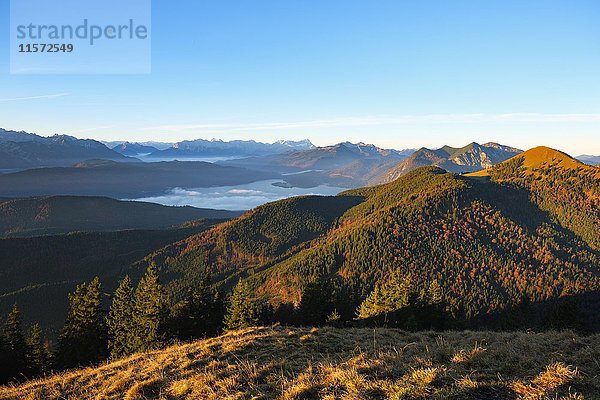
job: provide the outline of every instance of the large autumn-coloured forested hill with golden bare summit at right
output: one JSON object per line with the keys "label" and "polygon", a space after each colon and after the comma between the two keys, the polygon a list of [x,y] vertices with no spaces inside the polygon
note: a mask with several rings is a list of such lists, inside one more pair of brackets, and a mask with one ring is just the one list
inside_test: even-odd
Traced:
{"label": "large autumn-coloured forested hill with golden bare summit at right", "polygon": [[[409,298],[439,285],[449,318],[467,326],[493,324],[488,318],[523,302],[541,307],[528,323],[542,326],[552,323],[552,307],[573,298],[578,323],[598,329],[598,303],[588,303],[600,289],[598,169],[539,148],[487,174],[425,167],[333,198],[268,204],[147,262],[164,272],[200,263],[226,288],[245,278],[276,315],[288,310],[283,320],[295,309],[313,323],[333,310],[350,321],[402,281]],[[315,293],[317,309],[303,311]],[[367,318],[381,315],[374,310]]]}

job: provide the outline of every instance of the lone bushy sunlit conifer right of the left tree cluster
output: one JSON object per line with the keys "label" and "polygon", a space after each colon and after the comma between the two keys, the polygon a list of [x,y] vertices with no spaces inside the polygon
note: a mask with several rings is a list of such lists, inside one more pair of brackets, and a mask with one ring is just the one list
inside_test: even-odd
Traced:
{"label": "lone bushy sunlit conifer right of the left tree cluster", "polygon": [[250,285],[240,280],[229,298],[225,315],[225,329],[240,329],[259,325],[261,322],[261,304],[254,298]]}

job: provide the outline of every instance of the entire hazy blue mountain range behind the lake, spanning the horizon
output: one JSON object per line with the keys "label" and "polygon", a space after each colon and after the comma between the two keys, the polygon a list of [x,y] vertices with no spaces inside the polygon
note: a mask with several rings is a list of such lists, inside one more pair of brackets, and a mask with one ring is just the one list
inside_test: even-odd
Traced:
{"label": "entire hazy blue mountain range behind the lake, spanning the horizon", "polygon": [[[21,171],[19,175],[0,176],[0,183],[12,183],[11,187],[0,189],[0,196],[71,194],[123,197],[127,193],[138,197],[163,193],[175,187],[244,184],[261,180],[259,178],[282,179],[280,185],[284,187],[329,185],[355,188],[391,182],[422,166],[433,165],[459,173],[478,171],[521,152],[497,143],[471,143],[462,148],[444,146],[416,151],[383,149],[372,144],[350,142],[315,147],[309,140],[261,143],[253,140],[198,139],[172,145],[161,142],[106,144],[114,146],[108,148],[94,140],[70,136],[45,138],[26,132],[0,131],[0,154],[4,153],[0,159],[0,170]],[[169,162],[214,158],[220,159],[217,163],[222,167],[238,169],[219,170],[213,167],[216,175],[205,176],[200,171],[211,168],[207,165],[159,165],[152,162],[149,163],[152,165],[142,165],[136,157],[145,161]],[[126,166],[123,162],[140,165]],[[22,171],[39,167],[64,168]],[[187,167],[191,169],[186,170]],[[174,171],[180,174],[169,175]],[[157,175],[149,175],[155,172]],[[231,174],[237,174],[237,178],[230,179]],[[37,179],[45,181],[37,185]]]}

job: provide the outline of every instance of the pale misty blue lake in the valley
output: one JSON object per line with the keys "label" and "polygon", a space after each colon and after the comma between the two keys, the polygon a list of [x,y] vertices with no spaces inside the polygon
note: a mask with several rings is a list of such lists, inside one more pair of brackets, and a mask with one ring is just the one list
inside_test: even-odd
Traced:
{"label": "pale misty blue lake in the valley", "polygon": [[261,204],[292,196],[323,195],[335,196],[347,190],[332,186],[314,188],[286,188],[274,186],[281,180],[266,180],[237,186],[211,188],[174,188],[161,196],[132,199],[170,206],[193,206],[221,210],[249,210]]}

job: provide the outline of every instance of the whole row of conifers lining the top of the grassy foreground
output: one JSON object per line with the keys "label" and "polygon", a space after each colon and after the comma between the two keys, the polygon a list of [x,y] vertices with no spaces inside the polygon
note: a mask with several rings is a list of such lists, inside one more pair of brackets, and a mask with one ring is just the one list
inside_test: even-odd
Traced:
{"label": "whole row of conifers lining the top of the grassy foreground", "polygon": [[427,287],[416,282],[397,270],[364,297],[358,284],[340,285],[336,279],[324,279],[306,285],[298,304],[273,307],[257,294],[250,280],[239,280],[225,295],[211,285],[209,273],[199,276],[197,285],[181,300],[174,300],[151,265],[137,285],[127,276],[121,280],[110,306],[104,307],[107,294],[95,278],[69,295],[69,312],[54,348],[43,339],[38,325],[25,334],[21,313],[13,307],[0,336],[0,383],[119,359],[224,330],[273,323],[406,330],[582,326],[582,307],[576,298],[543,307],[523,299],[503,313],[471,319],[464,311],[452,311],[440,282],[433,280]]}

